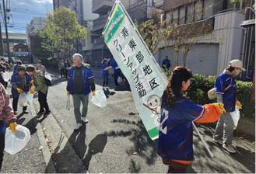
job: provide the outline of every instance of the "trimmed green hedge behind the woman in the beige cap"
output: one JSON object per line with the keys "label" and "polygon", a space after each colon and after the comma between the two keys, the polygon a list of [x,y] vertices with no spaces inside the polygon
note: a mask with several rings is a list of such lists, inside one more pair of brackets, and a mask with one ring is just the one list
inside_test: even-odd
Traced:
{"label": "trimmed green hedge behind the woman in the beige cap", "polygon": [[[212,100],[208,98],[207,92],[214,87],[216,78],[216,75],[193,75],[191,85],[185,96],[199,105],[212,103]],[[237,81],[237,99],[243,105],[242,110],[240,110],[241,117],[255,119],[255,105],[251,102],[251,89],[252,82]]]}

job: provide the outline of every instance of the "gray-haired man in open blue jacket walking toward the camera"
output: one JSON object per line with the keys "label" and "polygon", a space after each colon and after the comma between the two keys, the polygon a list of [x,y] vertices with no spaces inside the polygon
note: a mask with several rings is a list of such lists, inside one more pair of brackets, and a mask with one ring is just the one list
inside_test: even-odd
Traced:
{"label": "gray-haired man in open blue jacket walking toward the camera", "polygon": [[[73,96],[74,113],[76,126],[74,130],[79,130],[82,127],[82,122],[88,123],[86,119],[89,93],[92,91],[95,96],[95,83],[93,72],[84,64],[82,64],[82,55],[73,55],[74,66],[68,71],[67,95]],[[80,105],[82,102],[82,113]]]}

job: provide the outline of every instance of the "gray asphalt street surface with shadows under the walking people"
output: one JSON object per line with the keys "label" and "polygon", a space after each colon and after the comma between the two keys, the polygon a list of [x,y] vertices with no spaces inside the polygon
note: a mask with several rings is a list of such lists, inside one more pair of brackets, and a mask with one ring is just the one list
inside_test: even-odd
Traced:
{"label": "gray asphalt street surface with shadows under the walking people", "polygon": [[[100,69],[92,68],[96,81],[96,90],[102,90]],[[49,71],[50,72],[50,71]],[[152,141],[139,118],[132,93],[124,82],[114,89],[113,78],[110,79],[110,89],[106,92],[107,106],[100,108],[89,102],[87,114],[88,124],[82,124],[79,131],[73,131],[75,117],[71,98],[70,110],[66,109],[66,79],[51,71],[54,85],[49,88],[47,101],[51,109],[48,117],[41,117],[40,124],[26,124],[31,118],[26,118],[20,124],[37,127],[29,144],[32,150],[22,150],[15,155],[5,155],[4,167],[1,172],[92,172],[92,173],[165,173],[167,165],[163,165],[157,155],[157,140]],[[90,97],[89,97],[90,100]],[[34,100],[34,110],[38,110],[37,96]],[[31,111],[34,113],[34,111]],[[29,114],[28,114],[29,115]],[[33,117],[34,114],[31,114]],[[255,146],[254,137],[235,134],[233,144],[237,154],[230,154],[220,145],[212,142],[214,129],[208,125],[197,124],[205,141],[209,144],[213,155],[210,157],[198,134],[194,131],[195,161],[188,166],[188,172],[199,173],[254,173]],[[30,130],[31,131],[31,130]],[[44,132],[44,135],[37,134]],[[36,137],[37,136],[37,137]],[[243,137],[243,138],[242,138]],[[32,141],[33,139],[33,141]],[[42,153],[38,145],[44,141]],[[47,145],[45,144],[47,142]],[[48,150],[49,149],[49,150]],[[51,154],[51,156],[49,155]],[[33,154],[31,156],[31,154]],[[22,156],[27,162],[13,162],[12,159]],[[52,160],[51,160],[52,159]],[[42,164],[44,162],[44,165]],[[54,169],[52,165],[54,164]],[[13,171],[8,166],[15,166]],[[25,165],[29,166],[28,168]],[[30,166],[34,166],[30,167]],[[24,170],[19,170],[25,167]],[[42,168],[42,169],[41,169]],[[46,170],[47,169],[47,170]]]}

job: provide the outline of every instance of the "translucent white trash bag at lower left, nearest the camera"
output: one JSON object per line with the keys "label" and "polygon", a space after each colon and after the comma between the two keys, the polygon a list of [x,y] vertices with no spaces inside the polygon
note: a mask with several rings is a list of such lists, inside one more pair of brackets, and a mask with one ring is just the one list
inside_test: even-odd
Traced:
{"label": "translucent white trash bag at lower left, nearest the camera", "polygon": [[14,155],[22,150],[30,141],[30,130],[22,125],[17,125],[14,133],[7,127],[5,131],[5,151]]}

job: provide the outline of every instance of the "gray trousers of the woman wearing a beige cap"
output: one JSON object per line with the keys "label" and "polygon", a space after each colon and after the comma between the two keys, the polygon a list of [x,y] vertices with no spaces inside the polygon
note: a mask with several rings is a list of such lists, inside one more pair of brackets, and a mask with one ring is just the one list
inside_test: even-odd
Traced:
{"label": "gray trousers of the woman wearing a beige cap", "polygon": [[216,139],[223,138],[223,143],[232,144],[233,140],[233,119],[230,113],[221,114],[218,123],[216,125],[215,134],[213,135]]}

